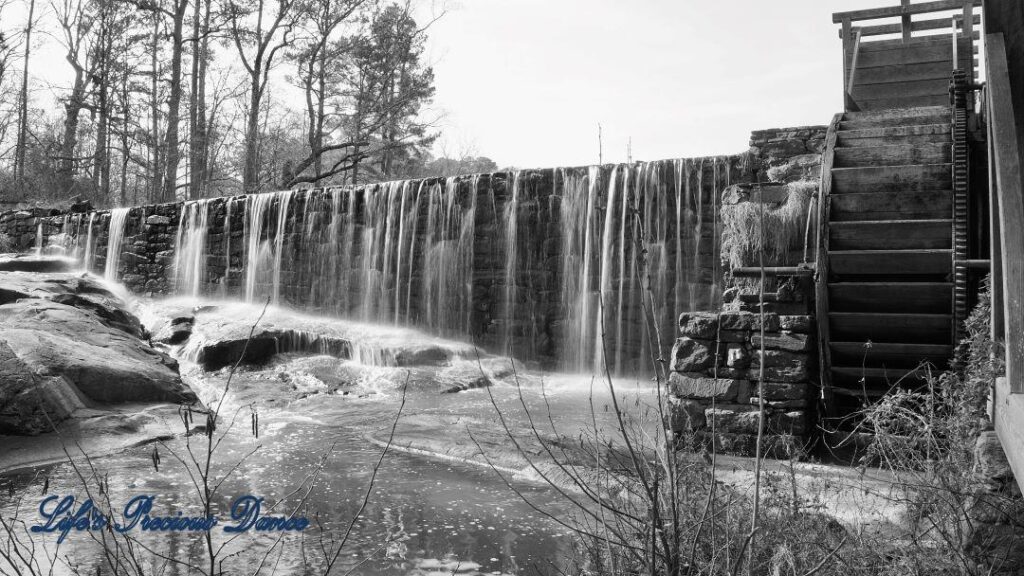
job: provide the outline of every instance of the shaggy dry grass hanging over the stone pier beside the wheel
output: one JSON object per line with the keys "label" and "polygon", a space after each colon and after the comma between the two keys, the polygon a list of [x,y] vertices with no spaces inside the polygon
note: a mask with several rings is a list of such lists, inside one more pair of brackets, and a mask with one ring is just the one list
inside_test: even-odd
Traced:
{"label": "shaggy dry grass hanging over the stone pier beside the wheel", "polygon": [[730,268],[754,265],[764,251],[767,265],[781,265],[786,256],[803,247],[807,212],[817,183],[800,180],[786,184],[784,204],[765,206],[762,243],[761,206],[742,202],[722,207],[722,261]]}

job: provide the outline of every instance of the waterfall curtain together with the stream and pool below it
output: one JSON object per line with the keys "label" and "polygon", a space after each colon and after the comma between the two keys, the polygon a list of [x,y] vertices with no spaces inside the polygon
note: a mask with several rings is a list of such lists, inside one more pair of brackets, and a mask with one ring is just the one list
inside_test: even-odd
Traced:
{"label": "waterfall curtain together with the stream and pool below it", "polygon": [[[265,301],[271,302],[267,325],[288,327],[297,342],[284,346],[289,354],[244,368],[224,398],[225,413],[241,419],[225,438],[224,461],[260,448],[225,482],[219,509],[228,495],[247,492],[290,501],[327,455],[303,510],[321,515],[329,532],[345,526],[366,493],[380,435],[398,412],[407,378],[401,426],[412,427],[399,433],[440,453],[465,447],[471,429],[494,434],[496,409],[522,426],[529,407],[535,418],[557,422],[557,431],[572,438],[595,424],[613,427],[610,393],[595,392],[591,376],[605,365],[622,378],[621,404],[644,412],[654,398],[650,359],[668,357],[675,319],[720,297],[718,202],[730,173],[728,159],[710,158],[185,202],[168,241],[168,285],[178,298],[138,310],[153,325],[173,310],[199,311],[191,339],[174,349],[183,378],[208,404],[218,401],[226,374],[204,372],[197,351],[224,324],[251,322]],[[129,213],[142,216],[137,228]],[[103,276],[117,281],[122,261],[130,268],[137,259],[124,255],[143,238],[145,217],[112,210],[104,246],[106,219],[78,215],[66,219],[65,241],[86,270],[105,250]],[[344,358],[310,345],[336,337],[352,344]],[[402,346],[439,346],[447,360],[398,368],[394,351]],[[481,347],[498,356],[478,359]],[[500,357],[508,355],[529,367],[500,369],[508,363]],[[439,394],[472,384],[480,371],[494,383],[489,392]],[[588,406],[605,410],[582,408]],[[249,426],[257,413],[258,439]],[[180,433],[168,431],[165,450],[184,453]],[[494,446],[511,450],[509,444]],[[152,453],[144,446],[96,460],[109,493],[122,501],[155,493],[163,511],[195,513],[189,477],[167,464],[169,454],[157,471]],[[385,458],[344,550],[344,570],[555,574],[565,567],[565,529],[536,509],[567,518],[563,499],[519,483],[525,502],[493,470],[442,462],[401,452]],[[20,474],[14,482],[30,517],[44,487],[67,492],[81,484],[68,465]],[[288,541],[288,551],[276,557],[279,573],[321,566],[310,538]],[[175,558],[202,552],[199,539],[182,535],[151,545]],[[73,535],[60,553],[68,551],[81,560],[83,573],[110,572],[87,535]],[[185,573],[173,564],[152,568]]]}

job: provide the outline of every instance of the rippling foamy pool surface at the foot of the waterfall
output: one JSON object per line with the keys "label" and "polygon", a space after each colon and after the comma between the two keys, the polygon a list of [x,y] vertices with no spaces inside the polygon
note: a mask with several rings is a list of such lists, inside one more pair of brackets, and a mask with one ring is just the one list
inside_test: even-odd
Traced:
{"label": "rippling foamy pool surface at the foot of the waterfall", "polygon": [[[507,363],[484,359],[492,365],[498,362]],[[265,497],[267,505],[276,505],[273,515],[298,506],[298,515],[308,518],[312,526],[286,535],[281,542],[275,535],[252,532],[229,540],[217,527],[212,532],[213,545],[223,546],[220,557],[224,560],[215,570],[223,569],[226,574],[323,573],[325,557],[337,550],[380,457],[381,448],[367,438],[390,428],[406,381],[409,392],[402,418],[430,421],[429,417],[438,416],[437,426],[427,431],[435,440],[466,434],[464,426],[446,423],[497,421],[484,390],[438,393],[447,380],[458,380],[474,369],[479,366],[471,361],[401,369],[297,355],[282,355],[267,365],[241,369],[221,413],[221,428],[232,420],[233,425],[217,449],[212,476],[220,479],[242,463],[219,487],[213,513],[225,522],[236,497],[254,494]],[[188,363],[183,363],[182,374],[206,402],[219,396],[226,377],[226,371],[204,373]],[[544,375],[547,398],[541,396],[541,380],[539,374],[522,374],[521,378],[527,406],[539,415],[549,408],[553,413],[552,418],[543,414],[539,420],[557,421],[559,431],[567,436],[577,436],[581,427],[590,425],[590,413],[581,410],[589,402],[589,377]],[[631,406],[651,396],[649,384],[621,385],[631,390],[626,403]],[[494,402],[508,419],[521,423],[520,393],[514,383],[496,380],[492,390]],[[595,401],[599,411],[606,403],[606,398]],[[258,439],[251,434],[250,407],[259,412]],[[13,495],[5,493],[0,507],[6,518],[16,512],[31,524],[38,518],[36,508],[44,488],[48,494],[74,494],[82,500],[84,484],[89,494],[100,498],[99,479],[105,479],[116,510],[134,495],[153,494],[157,496],[154,515],[202,516],[195,479],[177,460],[188,461],[189,442],[202,457],[206,439],[186,440],[181,429],[167,431],[174,438],[158,448],[159,471],[153,464],[154,445],[91,460],[96,475],[83,459],[78,472],[68,464],[24,471],[0,480],[13,483]],[[513,450],[511,443],[509,450]],[[300,505],[308,486],[304,483],[325,455],[324,469]],[[536,485],[517,485],[517,489],[532,505],[556,517],[567,519],[571,513],[552,490]],[[140,568],[146,574],[197,573],[189,565],[209,570],[203,564],[208,561],[202,533],[135,531],[132,535],[140,539],[141,556],[147,559]],[[48,567],[59,558],[54,574],[125,573],[104,560],[98,538],[94,533],[72,533],[57,546],[55,534],[37,535],[36,559]],[[392,451],[332,573],[556,574],[564,567],[570,546],[563,527],[510,491],[494,471]]]}

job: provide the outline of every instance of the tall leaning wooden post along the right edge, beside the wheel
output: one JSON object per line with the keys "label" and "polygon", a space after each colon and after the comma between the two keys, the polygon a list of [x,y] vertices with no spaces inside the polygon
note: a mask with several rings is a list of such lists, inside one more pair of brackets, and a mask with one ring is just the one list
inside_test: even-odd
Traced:
{"label": "tall leaning wooden post along the right edge, beside the wheel", "polygon": [[[1002,34],[986,34],[988,64],[988,126],[991,132],[998,203],[1002,292],[1002,336],[1010,389],[1024,393],[1024,178],[1017,122],[1010,89],[1010,72]],[[1020,446],[1024,446],[1021,443]]]}

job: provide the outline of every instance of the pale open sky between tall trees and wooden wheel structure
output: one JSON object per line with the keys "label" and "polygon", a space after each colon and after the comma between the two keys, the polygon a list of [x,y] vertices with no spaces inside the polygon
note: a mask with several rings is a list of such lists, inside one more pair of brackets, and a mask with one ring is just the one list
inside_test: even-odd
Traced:
{"label": "pale open sky between tall trees and wooden wheel structure", "polygon": [[[843,106],[835,11],[897,0],[461,0],[430,29],[440,152],[541,167],[733,154]],[[601,147],[598,146],[601,125]]]}

